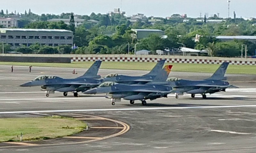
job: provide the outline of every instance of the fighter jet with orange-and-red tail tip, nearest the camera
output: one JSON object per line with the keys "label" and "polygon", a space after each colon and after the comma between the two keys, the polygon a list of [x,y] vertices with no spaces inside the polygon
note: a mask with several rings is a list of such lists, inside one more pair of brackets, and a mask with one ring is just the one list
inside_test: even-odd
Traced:
{"label": "fighter jet with orange-and-red tail tip, nearest the camera", "polygon": [[152,101],[157,98],[167,97],[167,94],[172,92],[172,87],[157,84],[157,82],[166,81],[171,68],[171,65],[164,66],[161,73],[158,73],[154,80],[148,84],[128,85],[116,82],[104,82],[99,87],[87,90],[84,94],[106,93],[106,98],[112,100],[112,105],[115,105],[117,101],[121,101],[121,98],[129,100],[131,104],[134,104],[135,100],[140,100],[142,105],[147,105],[147,99]]}

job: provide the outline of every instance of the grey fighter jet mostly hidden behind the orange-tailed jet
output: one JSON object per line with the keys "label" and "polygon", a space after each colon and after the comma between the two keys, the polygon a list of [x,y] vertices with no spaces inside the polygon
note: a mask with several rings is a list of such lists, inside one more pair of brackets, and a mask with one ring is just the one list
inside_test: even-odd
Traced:
{"label": "grey fighter jet mostly hidden behind the orange-tailed jet", "polygon": [[108,74],[103,82],[116,82],[122,84],[146,84],[151,82],[158,73],[161,73],[165,59],[160,60],[156,66],[148,73],[142,76],[127,76],[118,74]]}

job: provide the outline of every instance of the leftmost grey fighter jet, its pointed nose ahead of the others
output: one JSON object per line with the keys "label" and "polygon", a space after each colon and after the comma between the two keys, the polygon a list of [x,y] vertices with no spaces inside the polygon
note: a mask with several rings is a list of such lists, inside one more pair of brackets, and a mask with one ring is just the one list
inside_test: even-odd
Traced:
{"label": "leftmost grey fighter jet, its pointed nose ahead of the others", "polygon": [[97,80],[100,75],[97,75],[101,61],[96,61],[84,75],[75,79],[63,79],[58,76],[38,76],[36,79],[20,85],[20,87],[34,87],[41,86],[43,91],[46,91],[46,97],[49,94],[54,94],[55,91],[63,92],[64,96],[68,95],[68,92],[73,92],[74,96],[78,96],[78,92],[84,92],[88,89],[99,86],[102,80]]}

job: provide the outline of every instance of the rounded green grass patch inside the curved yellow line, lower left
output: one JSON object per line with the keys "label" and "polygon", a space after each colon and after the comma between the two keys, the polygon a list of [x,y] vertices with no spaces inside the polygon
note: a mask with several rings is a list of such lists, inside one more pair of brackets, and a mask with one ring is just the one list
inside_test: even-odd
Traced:
{"label": "rounded green grass patch inside the curved yellow line, lower left", "polygon": [[[43,118],[1,118],[0,142],[42,140],[69,136],[83,131],[86,124],[60,116]],[[17,138],[19,136],[19,138]]]}

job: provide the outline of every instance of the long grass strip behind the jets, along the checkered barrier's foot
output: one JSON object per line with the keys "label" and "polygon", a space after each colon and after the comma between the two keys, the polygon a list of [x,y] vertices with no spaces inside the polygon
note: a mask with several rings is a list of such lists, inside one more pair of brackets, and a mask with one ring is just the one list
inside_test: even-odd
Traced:
{"label": "long grass strip behind the jets, along the checkered barrier's foot", "polygon": [[[93,62],[73,62],[73,63],[16,63],[0,62],[0,65],[17,65],[17,66],[46,66],[46,67],[70,67],[70,68],[89,68]],[[102,62],[101,69],[124,69],[124,70],[151,70],[156,63],[140,62]],[[219,65],[211,64],[174,64],[172,71],[180,72],[209,72],[213,73]],[[256,66],[247,65],[229,65],[227,73],[237,74],[256,74]]]}

